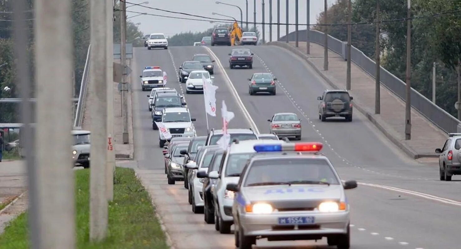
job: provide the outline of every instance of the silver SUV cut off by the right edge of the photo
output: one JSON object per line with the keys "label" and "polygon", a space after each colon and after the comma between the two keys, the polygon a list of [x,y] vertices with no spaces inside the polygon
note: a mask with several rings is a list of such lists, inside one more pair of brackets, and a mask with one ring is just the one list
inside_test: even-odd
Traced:
{"label": "silver SUV cut off by the right edge of the photo", "polygon": [[449,133],[438,158],[440,180],[451,181],[451,176],[461,174],[461,133]]}

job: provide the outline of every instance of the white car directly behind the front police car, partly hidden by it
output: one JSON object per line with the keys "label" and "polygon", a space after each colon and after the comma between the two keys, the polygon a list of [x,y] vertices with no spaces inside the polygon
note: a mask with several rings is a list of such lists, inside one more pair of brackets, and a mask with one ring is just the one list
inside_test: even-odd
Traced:
{"label": "white car directly behind the front police car, partly hidden by it", "polygon": [[[208,178],[217,180],[212,192],[215,229],[220,233],[230,233],[234,220],[232,217],[234,192],[226,190],[226,186],[229,183],[238,182],[245,163],[255,154],[253,146],[261,143],[261,140],[257,138],[245,141],[235,139],[224,152],[219,170],[208,174]],[[281,140],[264,140],[264,143],[280,145],[285,142]]]}

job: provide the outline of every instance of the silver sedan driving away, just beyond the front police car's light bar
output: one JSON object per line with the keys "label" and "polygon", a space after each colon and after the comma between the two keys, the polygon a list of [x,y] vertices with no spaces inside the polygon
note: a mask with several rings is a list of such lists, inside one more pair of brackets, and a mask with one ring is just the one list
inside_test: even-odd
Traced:
{"label": "silver sedan driving away, just beyond the front police car's light bar", "polygon": [[295,113],[276,113],[267,121],[271,122],[270,133],[274,133],[278,137],[301,139],[301,119]]}

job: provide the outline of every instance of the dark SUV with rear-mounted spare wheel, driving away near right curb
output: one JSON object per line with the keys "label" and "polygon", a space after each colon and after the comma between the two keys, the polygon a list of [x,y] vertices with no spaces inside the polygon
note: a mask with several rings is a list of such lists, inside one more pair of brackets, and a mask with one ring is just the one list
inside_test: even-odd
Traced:
{"label": "dark SUV with rear-mounted spare wheel, driving away near right curb", "polygon": [[319,103],[319,119],[324,122],[327,117],[345,117],[352,121],[352,96],[346,90],[326,90]]}

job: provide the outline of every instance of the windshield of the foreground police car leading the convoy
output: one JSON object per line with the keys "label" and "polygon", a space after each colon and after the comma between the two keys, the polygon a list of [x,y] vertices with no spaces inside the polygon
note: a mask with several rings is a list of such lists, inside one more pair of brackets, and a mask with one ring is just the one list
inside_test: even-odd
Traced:
{"label": "windshield of the foreground police car leading the convoy", "polygon": [[325,159],[271,159],[253,162],[245,186],[276,184],[339,184]]}

